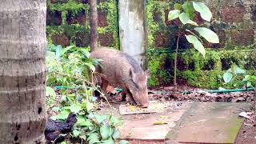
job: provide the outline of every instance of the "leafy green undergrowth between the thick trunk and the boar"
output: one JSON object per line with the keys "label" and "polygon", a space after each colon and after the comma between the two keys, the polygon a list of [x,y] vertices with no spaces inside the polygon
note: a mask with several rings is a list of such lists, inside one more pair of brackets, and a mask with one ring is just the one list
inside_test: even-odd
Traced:
{"label": "leafy green undergrowth between the thick trunk and the boar", "polygon": [[48,49],[47,101],[52,96],[56,97],[54,90],[49,86],[74,88],[58,91],[60,102],[51,107],[51,110],[58,114],[51,118],[64,121],[70,112],[74,112],[78,114],[78,122],[74,126],[73,134],[69,134],[70,138],[89,143],[114,143],[120,137],[118,127],[122,125],[122,121],[112,115],[97,114],[97,98],[92,95],[97,86],[87,80],[88,69],[94,72],[95,64],[101,60],[90,59],[88,49],[75,46],[49,46]]}

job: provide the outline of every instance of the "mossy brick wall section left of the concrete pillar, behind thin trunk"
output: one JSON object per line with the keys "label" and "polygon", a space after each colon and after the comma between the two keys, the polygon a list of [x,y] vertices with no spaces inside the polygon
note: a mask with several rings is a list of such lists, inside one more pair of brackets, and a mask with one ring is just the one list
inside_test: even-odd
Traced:
{"label": "mossy brick wall section left of the concrete pillar, behind thin trunk", "polygon": [[[47,0],[48,42],[90,46],[89,11],[89,0]],[[98,0],[98,44],[119,48],[116,0]]]}

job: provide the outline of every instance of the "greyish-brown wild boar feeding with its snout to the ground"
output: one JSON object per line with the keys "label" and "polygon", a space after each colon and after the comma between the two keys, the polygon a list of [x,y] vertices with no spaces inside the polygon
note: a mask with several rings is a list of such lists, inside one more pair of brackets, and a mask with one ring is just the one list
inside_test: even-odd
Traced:
{"label": "greyish-brown wild boar feeding with its snout to the ground", "polygon": [[149,105],[147,93],[148,70],[142,70],[139,63],[130,55],[114,49],[98,48],[91,52],[90,58],[102,59],[96,66],[94,82],[101,84],[106,90],[108,84],[122,88],[122,101],[126,94],[132,105],[147,107]]}

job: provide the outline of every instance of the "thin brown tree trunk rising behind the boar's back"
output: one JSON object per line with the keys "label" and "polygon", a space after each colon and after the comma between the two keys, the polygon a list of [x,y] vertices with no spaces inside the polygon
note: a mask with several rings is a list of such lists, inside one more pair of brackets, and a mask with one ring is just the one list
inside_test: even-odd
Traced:
{"label": "thin brown tree trunk rising behind the boar's back", "polygon": [[97,49],[98,42],[98,13],[97,13],[97,0],[90,0],[90,50]]}

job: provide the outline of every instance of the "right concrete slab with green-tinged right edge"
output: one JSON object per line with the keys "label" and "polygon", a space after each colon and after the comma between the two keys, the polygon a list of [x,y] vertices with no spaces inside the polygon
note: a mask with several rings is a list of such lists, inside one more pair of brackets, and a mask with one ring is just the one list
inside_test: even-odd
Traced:
{"label": "right concrete slab with green-tinged right edge", "polygon": [[167,138],[190,143],[234,143],[249,103],[194,102]]}

